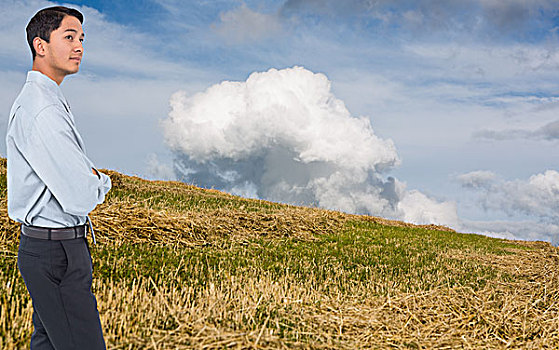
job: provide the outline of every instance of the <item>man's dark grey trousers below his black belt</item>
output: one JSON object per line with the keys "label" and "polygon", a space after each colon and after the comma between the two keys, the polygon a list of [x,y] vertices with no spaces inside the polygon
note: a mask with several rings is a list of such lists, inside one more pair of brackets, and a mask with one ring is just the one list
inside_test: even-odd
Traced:
{"label": "man's dark grey trousers below his black belt", "polygon": [[32,350],[106,349],[87,239],[21,235],[17,262],[33,301]]}

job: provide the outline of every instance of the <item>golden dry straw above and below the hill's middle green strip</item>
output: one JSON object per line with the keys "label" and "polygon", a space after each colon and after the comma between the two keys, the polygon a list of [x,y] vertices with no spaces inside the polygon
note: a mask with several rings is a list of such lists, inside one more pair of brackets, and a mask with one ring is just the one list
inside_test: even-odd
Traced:
{"label": "golden dry straw above and below the hill's middle green strip", "polygon": [[[131,242],[181,249],[224,240],[250,245],[256,238],[312,243],[350,220],[412,227],[108,173],[114,193],[127,195],[110,196],[92,213],[99,241],[94,259],[102,249],[118,254],[118,247]],[[185,198],[195,203],[185,204]],[[7,219],[5,195],[0,215],[0,348],[18,349],[29,341],[32,308],[15,266],[18,226]],[[404,292],[380,286],[386,292],[373,293],[380,282],[369,280],[327,291],[293,274],[278,279],[250,268],[240,275],[216,271],[196,286],[180,273],[186,268],[181,260],[172,278],[97,277],[94,290],[109,349],[559,348],[557,249],[542,242],[512,243],[507,254],[459,249],[440,254],[497,272],[478,287],[440,284]],[[115,257],[120,269],[142,268],[119,265],[124,261]],[[448,274],[453,268],[449,265]]]}

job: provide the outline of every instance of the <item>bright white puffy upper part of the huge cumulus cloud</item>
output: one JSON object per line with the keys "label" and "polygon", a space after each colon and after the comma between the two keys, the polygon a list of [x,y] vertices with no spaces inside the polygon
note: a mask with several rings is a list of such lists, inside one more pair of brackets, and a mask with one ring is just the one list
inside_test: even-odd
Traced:
{"label": "bright white puffy upper part of the huge cumulus cloud", "polygon": [[302,163],[376,171],[398,163],[392,142],[377,138],[367,119],[352,118],[326,76],[300,67],[224,81],[192,97],[178,92],[171,107],[167,142],[197,161],[242,159],[279,143]]}

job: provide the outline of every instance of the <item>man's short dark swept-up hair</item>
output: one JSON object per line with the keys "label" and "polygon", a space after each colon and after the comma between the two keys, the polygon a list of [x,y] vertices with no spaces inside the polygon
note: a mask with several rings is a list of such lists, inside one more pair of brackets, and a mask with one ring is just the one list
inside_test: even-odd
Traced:
{"label": "man's short dark swept-up hair", "polygon": [[27,24],[27,43],[31,48],[33,59],[37,56],[33,47],[33,39],[39,37],[50,42],[50,34],[60,27],[60,23],[66,16],[76,17],[80,23],[83,23],[83,15],[80,11],[64,6],[47,7],[35,14]]}

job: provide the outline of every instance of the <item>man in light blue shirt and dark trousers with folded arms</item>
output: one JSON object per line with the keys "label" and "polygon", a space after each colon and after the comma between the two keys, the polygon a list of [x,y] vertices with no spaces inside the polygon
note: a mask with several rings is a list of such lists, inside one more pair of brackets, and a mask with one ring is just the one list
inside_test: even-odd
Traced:
{"label": "man in light blue shirt and dark trousers with folded arms", "polygon": [[[10,111],[8,214],[20,222],[18,267],[33,301],[31,349],[105,349],[91,292],[89,212],[110,178],[85,155],[59,85],[83,56],[83,15],[43,9],[27,25],[33,68]],[[89,226],[87,225],[89,223]]]}

